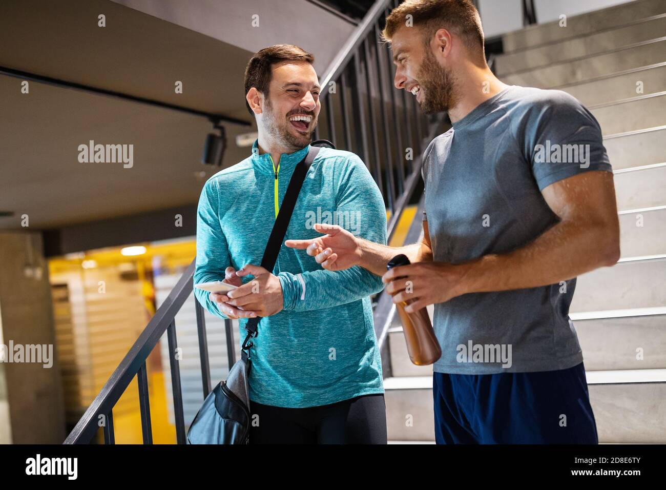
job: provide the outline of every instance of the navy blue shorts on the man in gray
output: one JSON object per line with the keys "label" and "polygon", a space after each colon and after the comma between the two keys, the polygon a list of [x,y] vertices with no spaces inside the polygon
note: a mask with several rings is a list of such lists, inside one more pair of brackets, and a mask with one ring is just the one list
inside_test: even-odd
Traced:
{"label": "navy blue shorts on the man in gray", "polygon": [[583,363],[558,371],[434,373],[438,444],[598,444]]}

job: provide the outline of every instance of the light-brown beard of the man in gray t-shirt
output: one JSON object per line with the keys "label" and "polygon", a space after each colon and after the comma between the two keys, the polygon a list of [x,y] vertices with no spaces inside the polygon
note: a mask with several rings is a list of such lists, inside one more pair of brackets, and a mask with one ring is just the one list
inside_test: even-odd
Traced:
{"label": "light-brown beard of the man in gray t-shirt", "polygon": [[437,63],[430,47],[426,47],[425,51],[426,55],[416,77],[424,91],[419,107],[426,114],[448,111],[458,99],[454,92],[454,76],[450,69]]}

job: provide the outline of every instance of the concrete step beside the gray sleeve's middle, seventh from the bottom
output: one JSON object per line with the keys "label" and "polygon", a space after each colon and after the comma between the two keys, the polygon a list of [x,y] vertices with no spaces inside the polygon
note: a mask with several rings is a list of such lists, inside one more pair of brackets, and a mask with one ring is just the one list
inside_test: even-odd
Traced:
{"label": "concrete step beside the gray sleeve's middle, seventh from the bottom", "polygon": [[666,124],[666,92],[591,105],[588,109],[599,121],[603,135],[661,126]]}

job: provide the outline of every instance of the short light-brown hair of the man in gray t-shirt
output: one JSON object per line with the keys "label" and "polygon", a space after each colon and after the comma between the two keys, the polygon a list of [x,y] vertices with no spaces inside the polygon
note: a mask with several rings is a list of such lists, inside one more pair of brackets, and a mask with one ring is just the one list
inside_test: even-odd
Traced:
{"label": "short light-brown hair of the man in gray t-shirt", "polygon": [[406,0],[386,17],[382,39],[390,41],[406,25],[408,15],[412,16],[412,25],[423,28],[426,43],[444,27],[460,36],[470,51],[480,52],[486,59],[481,17],[470,0]]}

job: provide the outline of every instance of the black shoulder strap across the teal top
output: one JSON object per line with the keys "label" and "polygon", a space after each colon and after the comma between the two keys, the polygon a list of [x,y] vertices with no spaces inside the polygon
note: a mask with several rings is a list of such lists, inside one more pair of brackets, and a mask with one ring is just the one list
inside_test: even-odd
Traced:
{"label": "black shoulder strap across the teal top", "polygon": [[[273,267],[275,267],[275,263],[278,260],[280,247],[282,247],[282,240],[284,239],[284,235],[287,232],[287,227],[289,226],[291,215],[294,212],[294,206],[296,206],[298,193],[300,192],[300,188],[303,185],[305,176],[310,169],[310,165],[312,165],[312,162],[317,156],[317,153],[319,153],[320,149],[320,147],[310,145],[308,154],[304,159],[296,164],[294,173],[292,173],[292,177],[289,180],[287,191],[284,194],[284,199],[282,199],[282,205],[280,205],[280,211],[278,211],[278,216],[275,219],[275,223],[273,223],[273,229],[270,232],[270,237],[268,237],[266,249],[264,249],[264,257],[261,259],[261,267],[269,272],[273,271]],[[250,339],[256,335],[256,330],[260,319],[261,317],[250,318],[245,324],[248,335],[245,337],[245,341],[243,342],[243,353],[245,349],[252,347],[252,341]]]}

